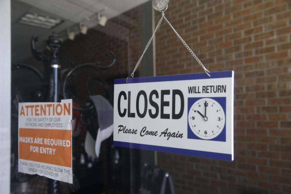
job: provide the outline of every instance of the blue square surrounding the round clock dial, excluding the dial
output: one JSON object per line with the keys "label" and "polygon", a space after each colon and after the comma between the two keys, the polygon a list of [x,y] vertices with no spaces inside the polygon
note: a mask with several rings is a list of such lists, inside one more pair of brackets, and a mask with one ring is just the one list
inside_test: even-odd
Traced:
{"label": "blue square surrounding the round clock dial, excluding the dial", "polygon": [[200,100],[201,98],[211,98],[213,100],[216,100],[222,107],[224,114],[225,114],[225,124],[224,127],[219,135],[214,137],[213,139],[209,139],[206,141],[220,141],[220,142],[226,142],[226,97],[199,97],[199,98],[188,98],[188,114],[187,114],[187,138],[188,139],[197,139],[197,140],[205,140],[193,133],[189,126],[188,122],[188,116],[189,116],[189,111],[191,109],[191,106],[197,101]]}

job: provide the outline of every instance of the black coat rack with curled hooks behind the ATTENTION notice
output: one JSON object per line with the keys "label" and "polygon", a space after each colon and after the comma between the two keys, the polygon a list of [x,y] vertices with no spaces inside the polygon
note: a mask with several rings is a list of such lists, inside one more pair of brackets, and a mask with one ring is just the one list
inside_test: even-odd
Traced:
{"label": "black coat rack with curled hooks behind the ATTENTION notice", "polygon": [[[45,65],[45,73],[46,75],[42,75],[36,68],[26,65],[26,64],[13,64],[12,65],[12,71],[17,69],[27,69],[32,71],[37,75],[37,77],[40,79],[40,82],[42,84],[42,89],[40,91],[37,91],[34,96],[36,99],[40,102],[60,102],[61,99],[68,98],[68,94],[66,92],[67,89],[67,83],[68,78],[77,70],[84,69],[84,68],[92,68],[95,70],[104,70],[112,67],[116,62],[116,57],[113,54],[113,52],[107,52],[107,56],[111,56],[112,62],[111,64],[107,66],[100,65],[100,61],[97,61],[95,63],[84,63],[79,64],[77,66],[74,66],[67,74],[65,74],[65,77],[61,77],[61,64],[60,59],[58,57],[59,49],[61,47],[61,44],[63,43],[62,39],[53,32],[52,35],[50,35],[47,39],[47,49],[44,51],[38,51],[36,49],[36,42],[38,41],[37,36],[33,36],[31,38],[30,46],[31,46],[31,52],[33,57],[37,61],[42,61]],[[62,78],[62,79],[61,79]],[[63,82],[60,82],[60,80],[63,80]],[[97,77],[93,77],[93,79],[87,80],[86,82],[86,88],[88,90],[88,93],[92,95],[92,91],[90,90],[90,82],[100,81]],[[105,91],[110,93],[110,88],[107,84],[103,85],[103,88]],[[111,96],[111,95],[109,95]],[[74,97],[76,99],[76,97]],[[76,99],[77,100],[77,99]],[[77,100],[78,101],[78,100]],[[81,115],[88,110],[92,110],[94,107],[92,102],[87,103],[85,106],[75,107],[73,106],[74,110],[78,110],[81,112]],[[17,117],[17,115],[12,114],[13,117]],[[86,125],[86,123],[82,116],[80,117],[80,121],[82,124]],[[48,179],[48,194],[59,194],[60,193],[60,181],[56,181],[53,179]]]}

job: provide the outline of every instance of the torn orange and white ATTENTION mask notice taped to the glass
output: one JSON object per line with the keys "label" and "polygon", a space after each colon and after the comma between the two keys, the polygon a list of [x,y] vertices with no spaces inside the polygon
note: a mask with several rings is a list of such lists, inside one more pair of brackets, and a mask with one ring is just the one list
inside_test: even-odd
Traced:
{"label": "torn orange and white ATTENTION mask notice taped to the glass", "polygon": [[18,108],[18,171],[73,183],[72,99]]}

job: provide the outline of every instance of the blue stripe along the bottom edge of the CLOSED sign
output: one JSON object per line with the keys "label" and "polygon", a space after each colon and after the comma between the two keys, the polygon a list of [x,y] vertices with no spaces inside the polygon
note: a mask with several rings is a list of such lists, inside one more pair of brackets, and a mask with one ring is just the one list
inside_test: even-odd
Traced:
{"label": "blue stripe along the bottom edge of the CLOSED sign", "polygon": [[151,151],[162,151],[162,152],[167,152],[167,153],[172,153],[172,154],[183,154],[183,155],[200,156],[200,157],[205,157],[205,158],[232,161],[231,154],[221,154],[221,153],[215,153],[215,152],[209,152],[209,151],[197,151],[197,150],[191,150],[191,149],[181,149],[181,148],[136,144],[136,143],[119,142],[119,141],[113,141],[113,144],[115,146],[121,146],[121,147],[145,149],[145,150],[151,150]]}

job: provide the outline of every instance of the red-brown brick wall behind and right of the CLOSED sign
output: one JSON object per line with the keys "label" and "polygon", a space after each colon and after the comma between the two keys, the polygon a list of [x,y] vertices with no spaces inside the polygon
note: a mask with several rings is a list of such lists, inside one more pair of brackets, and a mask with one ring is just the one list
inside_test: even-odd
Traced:
{"label": "red-brown brick wall behind and right of the CLOSED sign", "polygon": [[[235,160],[159,152],[176,193],[291,193],[291,1],[171,0],[165,15],[206,68],[235,71]],[[166,22],[156,72],[203,72]]]}

